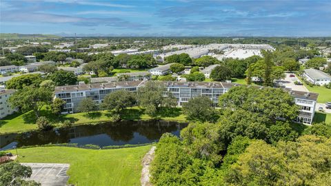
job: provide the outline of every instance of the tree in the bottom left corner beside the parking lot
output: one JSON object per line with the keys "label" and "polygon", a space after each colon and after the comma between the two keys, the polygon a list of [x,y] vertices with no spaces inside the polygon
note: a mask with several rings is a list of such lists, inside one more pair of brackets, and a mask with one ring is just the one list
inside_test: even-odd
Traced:
{"label": "tree in the bottom left corner beside the parking lot", "polygon": [[15,161],[0,164],[0,172],[0,185],[41,185],[33,180],[25,180],[25,178],[30,178],[32,174],[31,167]]}

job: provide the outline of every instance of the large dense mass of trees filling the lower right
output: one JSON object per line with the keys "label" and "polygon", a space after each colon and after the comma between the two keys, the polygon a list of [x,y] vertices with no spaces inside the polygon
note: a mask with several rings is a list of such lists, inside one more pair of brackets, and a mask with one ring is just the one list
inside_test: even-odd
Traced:
{"label": "large dense mass of trees filling the lower right", "polygon": [[[151,167],[154,185],[325,185],[330,180],[331,124],[302,132],[277,121],[299,110],[288,93],[234,87],[221,96],[221,110],[210,104],[197,97],[183,105],[195,122],[181,138],[161,137]],[[210,120],[215,115],[218,119]]]}

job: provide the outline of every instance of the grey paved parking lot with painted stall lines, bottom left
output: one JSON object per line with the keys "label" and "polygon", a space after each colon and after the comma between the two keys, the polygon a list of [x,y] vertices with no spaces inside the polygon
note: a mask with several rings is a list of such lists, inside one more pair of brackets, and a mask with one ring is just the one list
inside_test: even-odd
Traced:
{"label": "grey paved parking lot with painted stall lines, bottom left", "polygon": [[67,170],[69,164],[60,163],[21,163],[32,168],[30,180],[35,180],[41,185],[63,186],[66,185],[69,176]]}

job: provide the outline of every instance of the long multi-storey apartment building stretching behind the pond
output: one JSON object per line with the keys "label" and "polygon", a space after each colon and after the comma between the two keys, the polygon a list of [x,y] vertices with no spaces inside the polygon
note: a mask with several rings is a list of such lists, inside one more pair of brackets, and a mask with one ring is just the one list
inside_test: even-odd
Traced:
{"label": "long multi-storey apartment building stretching behind the pond", "polygon": [[[137,92],[147,81],[117,81],[112,83],[94,83],[90,85],[68,85],[55,87],[55,97],[66,101],[63,113],[77,112],[79,102],[88,97],[96,103],[102,103],[104,96],[116,90],[126,89]],[[177,99],[178,106],[187,103],[197,96],[208,96],[214,107],[217,107],[219,96],[228,92],[231,87],[239,86],[235,83],[223,82],[178,82],[161,81],[168,92]],[[261,87],[262,88],[262,87]],[[312,92],[288,91],[294,97],[295,103],[300,106],[298,118],[295,121],[310,125],[314,118],[314,110],[318,94]]]}

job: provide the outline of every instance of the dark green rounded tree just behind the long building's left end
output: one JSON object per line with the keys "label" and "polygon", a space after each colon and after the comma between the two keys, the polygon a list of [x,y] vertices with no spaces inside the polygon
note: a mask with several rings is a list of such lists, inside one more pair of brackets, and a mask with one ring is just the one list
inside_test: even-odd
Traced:
{"label": "dark green rounded tree just behind the long building's left end", "polygon": [[73,72],[67,72],[64,70],[57,70],[50,75],[50,79],[54,81],[55,85],[75,85],[77,83],[77,76]]}

